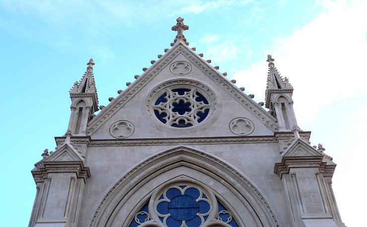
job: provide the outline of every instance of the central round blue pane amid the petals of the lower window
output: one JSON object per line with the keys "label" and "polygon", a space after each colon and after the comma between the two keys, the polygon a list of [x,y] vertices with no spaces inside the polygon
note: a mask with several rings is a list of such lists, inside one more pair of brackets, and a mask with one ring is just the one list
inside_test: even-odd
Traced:
{"label": "central round blue pane amid the petals of the lower window", "polygon": [[168,204],[168,212],[171,217],[178,221],[193,219],[199,210],[196,200],[190,196],[176,196]]}

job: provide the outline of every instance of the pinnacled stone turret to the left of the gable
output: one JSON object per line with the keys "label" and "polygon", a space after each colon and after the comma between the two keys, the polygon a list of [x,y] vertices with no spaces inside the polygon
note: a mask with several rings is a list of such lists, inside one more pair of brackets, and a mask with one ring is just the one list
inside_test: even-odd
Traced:
{"label": "pinnacled stone turret to the left of the gable", "polygon": [[91,58],[87,63],[87,72],[81,80],[75,81],[73,87],[70,89],[71,98],[71,114],[68,125],[68,130],[72,135],[85,135],[88,121],[98,111],[98,95],[96,84],[93,76],[93,59]]}

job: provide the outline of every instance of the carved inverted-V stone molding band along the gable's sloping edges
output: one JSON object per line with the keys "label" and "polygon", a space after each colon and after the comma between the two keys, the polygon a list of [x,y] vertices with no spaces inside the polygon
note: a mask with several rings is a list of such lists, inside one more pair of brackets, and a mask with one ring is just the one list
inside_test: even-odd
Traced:
{"label": "carved inverted-V stone molding band along the gable's sloping edges", "polygon": [[[250,105],[248,101],[252,101],[251,99],[246,100],[245,95],[237,92],[233,87],[233,84],[230,84],[229,81],[223,79],[218,72],[214,70],[208,69],[206,66],[201,64],[199,61],[194,58],[191,53],[188,53],[183,50],[182,47],[173,52],[165,61],[163,61],[152,73],[147,76],[140,76],[135,82],[137,85],[128,87],[125,91],[120,94],[120,96],[114,99],[113,102],[110,103],[111,107],[107,106],[101,113],[97,115],[96,120],[92,120],[90,123],[90,127],[87,128],[86,135],[91,135],[94,131],[96,131],[107,119],[109,119],[117,110],[119,110],[132,96],[135,95],[145,84],[147,84],[154,76],[156,76],[166,65],[168,65],[176,56],[182,53],[186,58],[188,58],[192,63],[194,63],[199,69],[201,69],[206,75],[216,81],[219,85],[221,85],[229,94],[231,94],[236,100],[238,100],[247,110],[249,110],[253,115],[255,115],[259,120],[261,120],[266,126],[268,126],[271,130],[278,131],[278,127],[275,124],[275,120],[266,113],[264,110],[264,114],[261,114],[258,110],[261,107],[258,107],[256,103]],[[162,59],[163,60],[163,59]],[[157,63],[159,63],[158,61]],[[156,64],[157,64],[156,63]],[[147,71],[149,72],[149,71]],[[147,73],[146,72],[146,73]],[[220,77],[219,77],[220,76]],[[138,83],[139,82],[139,83]],[[237,89],[237,88],[236,88]],[[112,105],[114,105],[112,107]],[[107,112],[108,111],[108,112]],[[266,114],[268,116],[266,116]]]}

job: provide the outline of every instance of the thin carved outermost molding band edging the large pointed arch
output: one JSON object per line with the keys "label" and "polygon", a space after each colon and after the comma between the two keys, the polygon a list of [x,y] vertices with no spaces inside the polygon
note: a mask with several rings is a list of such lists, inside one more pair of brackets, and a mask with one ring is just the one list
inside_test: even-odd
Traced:
{"label": "thin carved outermost molding band edging the large pointed arch", "polygon": [[[257,203],[257,205],[259,206],[259,209],[264,210],[268,213],[268,216],[266,217],[267,219],[271,220],[272,223],[274,224],[274,226],[279,227],[279,224],[275,218],[275,215],[273,213],[273,211],[271,210],[269,204],[266,202],[265,198],[263,197],[263,195],[261,194],[261,192],[256,188],[256,186],[251,183],[247,177],[242,174],[241,172],[237,171],[236,169],[234,169],[232,166],[230,166],[229,164],[227,164],[226,162],[224,162],[223,160],[205,153],[203,151],[198,151],[198,150],[194,150],[188,147],[184,147],[184,146],[180,146],[180,147],[176,147],[173,149],[169,149],[163,152],[160,152],[158,154],[155,154],[147,159],[145,159],[144,161],[142,161],[140,164],[136,165],[135,167],[131,168],[130,170],[128,170],[123,176],[122,178],[120,178],[118,181],[116,181],[116,183],[114,184],[114,186],[111,187],[111,189],[107,192],[107,194],[105,194],[104,198],[102,199],[102,201],[100,202],[99,206],[96,208],[95,214],[92,217],[92,220],[90,222],[89,227],[95,227],[96,223],[98,220],[100,220],[100,216],[103,214],[103,211],[105,210],[105,204],[109,204],[108,200],[110,199],[110,197],[114,194],[115,191],[120,191],[117,190],[117,188],[119,188],[120,186],[122,186],[123,184],[126,184],[130,181],[129,177],[133,177],[132,175],[138,174],[136,172],[140,171],[143,167],[151,164],[152,162],[154,162],[155,160],[162,158],[164,156],[172,156],[173,153],[175,152],[180,152],[180,151],[184,151],[187,152],[188,154],[194,154],[194,155],[199,155],[203,158],[206,158],[212,162],[215,162],[216,164],[221,165],[223,168],[225,168],[228,172],[234,174],[235,176],[238,177],[239,180],[241,180],[243,183],[245,183],[245,185],[247,185],[249,191],[253,194],[253,199],[252,202]],[[208,164],[210,164],[209,162],[207,162]],[[122,186],[123,187],[123,186]],[[118,192],[117,192],[118,193]],[[251,194],[250,193],[250,194]],[[116,195],[114,194],[114,197]],[[112,198],[114,198],[112,197]],[[256,202],[256,200],[259,200],[258,202]],[[261,201],[261,202],[260,202]],[[262,205],[260,205],[262,204]],[[99,221],[98,221],[99,222]],[[219,223],[218,223],[219,224]],[[149,222],[144,224],[144,227],[146,226],[150,226]],[[218,225],[215,225],[218,226]],[[227,227],[227,225],[224,225],[224,223],[220,223],[220,226],[223,227]]]}

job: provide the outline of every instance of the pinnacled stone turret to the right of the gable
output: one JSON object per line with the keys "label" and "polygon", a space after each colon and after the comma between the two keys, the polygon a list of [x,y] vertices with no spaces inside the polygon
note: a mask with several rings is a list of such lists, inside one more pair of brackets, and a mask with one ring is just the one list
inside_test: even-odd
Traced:
{"label": "pinnacled stone turret to the right of the gable", "polygon": [[284,79],[274,67],[274,59],[268,55],[269,73],[265,90],[265,107],[270,109],[270,114],[278,119],[279,131],[291,131],[297,125],[293,110],[293,87],[288,78]]}

